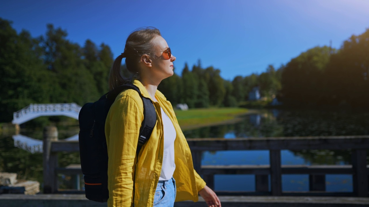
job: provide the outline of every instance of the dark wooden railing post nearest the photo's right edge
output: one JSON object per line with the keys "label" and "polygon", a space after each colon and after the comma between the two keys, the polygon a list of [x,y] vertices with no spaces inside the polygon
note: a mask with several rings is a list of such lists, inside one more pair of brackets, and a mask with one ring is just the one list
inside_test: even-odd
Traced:
{"label": "dark wooden railing post nearest the photo's right edge", "polygon": [[366,150],[352,150],[352,168],[354,174],[352,175],[352,183],[354,187],[354,194],[359,197],[368,196],[368,172],[366,169]]}

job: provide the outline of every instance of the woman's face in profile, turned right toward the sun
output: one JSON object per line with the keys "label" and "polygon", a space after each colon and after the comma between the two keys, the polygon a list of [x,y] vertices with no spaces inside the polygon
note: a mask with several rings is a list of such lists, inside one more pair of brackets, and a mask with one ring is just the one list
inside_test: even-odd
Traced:
{"label": "woman's face in profile, turned right toward the sun", "polygon": [[163,54],[163,52],[159,52],[165,51],[169,48],[164,38],[162,38],[161,36],[156,36],[154,42],[155,57],[151,58],[151,72],[156,78],[160,78],[163,80],[164,78],[173,76],[173,61],[176,60],[176,57],[172,55],[170,59],[166,60],[165,57],[168,57],[168,55]]}

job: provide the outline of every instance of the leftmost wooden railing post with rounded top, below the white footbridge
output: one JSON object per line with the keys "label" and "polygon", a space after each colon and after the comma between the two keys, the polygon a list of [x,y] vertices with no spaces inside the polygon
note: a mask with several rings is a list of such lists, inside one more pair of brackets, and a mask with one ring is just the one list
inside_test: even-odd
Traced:
{"label": "leftmost wooden railing post with rounded top, below the white footbridge", "polygon": [[57,191],[57,180],[55,168],[58,166],[58,155],[51,152],[51,142],[58,141],[58,129],[55,126],[44,128],[43,160],[44,167],[44,193],[55,193]]}

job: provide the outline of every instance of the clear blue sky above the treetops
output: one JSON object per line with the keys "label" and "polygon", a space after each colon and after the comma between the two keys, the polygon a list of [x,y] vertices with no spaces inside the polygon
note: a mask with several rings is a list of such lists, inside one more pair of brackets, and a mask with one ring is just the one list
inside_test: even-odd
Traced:
{"label": "clear blue sky above the treetops", "polygon": [[221,76],[262,73],[314,46],[339,48],[369,28],[368,0],[2,0],[0,17],[36,37],[52,23],[83,46],[86,39],[110,46],[114,57],[139,27],[160,29],[173,55],[175,72],[191,67],[221,70]]}

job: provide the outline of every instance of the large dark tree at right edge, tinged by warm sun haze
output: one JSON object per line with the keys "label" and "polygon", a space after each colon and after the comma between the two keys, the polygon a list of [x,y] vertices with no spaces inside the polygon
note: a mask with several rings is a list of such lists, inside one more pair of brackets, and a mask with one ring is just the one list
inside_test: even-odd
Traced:
{"label": "large dark tree at right edge, tinged by warm sun haze", "polygon": [[369,104],[369,29],[352,35],[333,53],[324,76],[326,103],[367,107]]}

